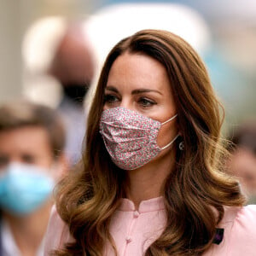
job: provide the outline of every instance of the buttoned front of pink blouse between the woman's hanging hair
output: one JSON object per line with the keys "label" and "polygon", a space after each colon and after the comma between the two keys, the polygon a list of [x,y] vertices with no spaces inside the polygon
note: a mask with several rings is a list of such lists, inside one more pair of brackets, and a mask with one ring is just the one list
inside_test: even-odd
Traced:
{"label": "buttoned front of pink blouse between the woman's hanging hair", "polygon": [[[110,223],[119,256],[143,255],[165,229],[166,211],[163,197],[142,201],[135,208],[132,201],[122,199],[119,209]],[[112,248],[106,247],[106,255],[113,255]]]}

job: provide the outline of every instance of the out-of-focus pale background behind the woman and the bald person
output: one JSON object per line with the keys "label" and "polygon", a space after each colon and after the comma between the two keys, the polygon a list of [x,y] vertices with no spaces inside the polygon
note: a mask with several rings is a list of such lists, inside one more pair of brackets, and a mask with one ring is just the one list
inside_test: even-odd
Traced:
{"label": "out-of-focus pale background behind the woman and the bald person", "polygon": [[[122,3],[126,5],[119,9],[113,8]],[[1,0],[0,103],[17,96],[26,96],[53,107],[59,104],[63,93],[60,80],[52,79],[49,76],[51,73],[47,71],[60,38],[63,37],[63,27],[69,21],[79,20],[83,23],[84,38],[89,38],[87,41],[90,44],[87,45],[91,52],[91,62],[94,63],[90,84],[96,80],[108,49],[119,38],[140,29],[137,25],[144,22],[143,26],[155,23],[159,28],[161,24],[164,29],[170,27],[170,30],[184,35],[200,52],[207,64],[212,84],[224,104],[224,131],[230,131],[230,127],[246,119],[254,119],[256,2],[180,0],[162,1],[162,9],[145,11],[142,7],[143,4],[156,3],[160,2]],[[136,4],[142,7],[141,12]],[[166,12],[160,20],[161,12],[166,9],[165,4],[170,9],[169,16]],[[129,10],[126,14],[125,9]],[[45,25],[47,22],[43,21],[46,18],[54,20],[53,25],[50,22]],[[41,76],[43,73],[44,76]]]}

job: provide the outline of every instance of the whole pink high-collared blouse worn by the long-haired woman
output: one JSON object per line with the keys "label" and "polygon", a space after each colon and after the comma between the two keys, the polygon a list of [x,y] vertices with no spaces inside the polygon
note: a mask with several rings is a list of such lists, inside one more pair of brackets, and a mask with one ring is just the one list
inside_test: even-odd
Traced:
{"label": "whole pink high-collared blouse worn by the long-haired woman", "polygon": [[[123,199],[110,223],[119,256],[142,256],[148,246],[155,241],[166,225],[163,197],[142,201],[138,210],[132,201]],[[212,244],[204,256],[253,256],[256,255],[256,206],[225,207],[224,218],[218,225],[224,229],[223,240]],[[51,212],[45,239],[44,255],[53,249],[73,241],[67,225],[59,217],[55,207]],[[107,244],[104,255],[114,255]]]}

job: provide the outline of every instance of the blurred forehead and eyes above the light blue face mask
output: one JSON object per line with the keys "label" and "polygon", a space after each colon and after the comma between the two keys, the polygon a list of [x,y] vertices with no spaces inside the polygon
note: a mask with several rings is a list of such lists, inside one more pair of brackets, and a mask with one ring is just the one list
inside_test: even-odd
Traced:
{"label": "blurred forehead and eyes above the light blue face mask", "polygon": [[53,163],[47,131],[38,126],[25,126],[0,131],[0,169],[12,162],[49,168]]}

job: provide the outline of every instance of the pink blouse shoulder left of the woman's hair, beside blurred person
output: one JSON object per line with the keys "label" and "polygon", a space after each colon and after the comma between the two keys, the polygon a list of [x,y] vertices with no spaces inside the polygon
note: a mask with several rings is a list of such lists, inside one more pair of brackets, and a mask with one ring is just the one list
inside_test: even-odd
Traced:
{"label": "pink blouse shoulder left of the woman's hair, beside blurred person", "polygon": [[49,255],[49,252],[60,248],[67,241],[72,241],[67,224],[61,219],[56,207],[53,206],[50,212],[48,228],[44,241],[44,255]]}

